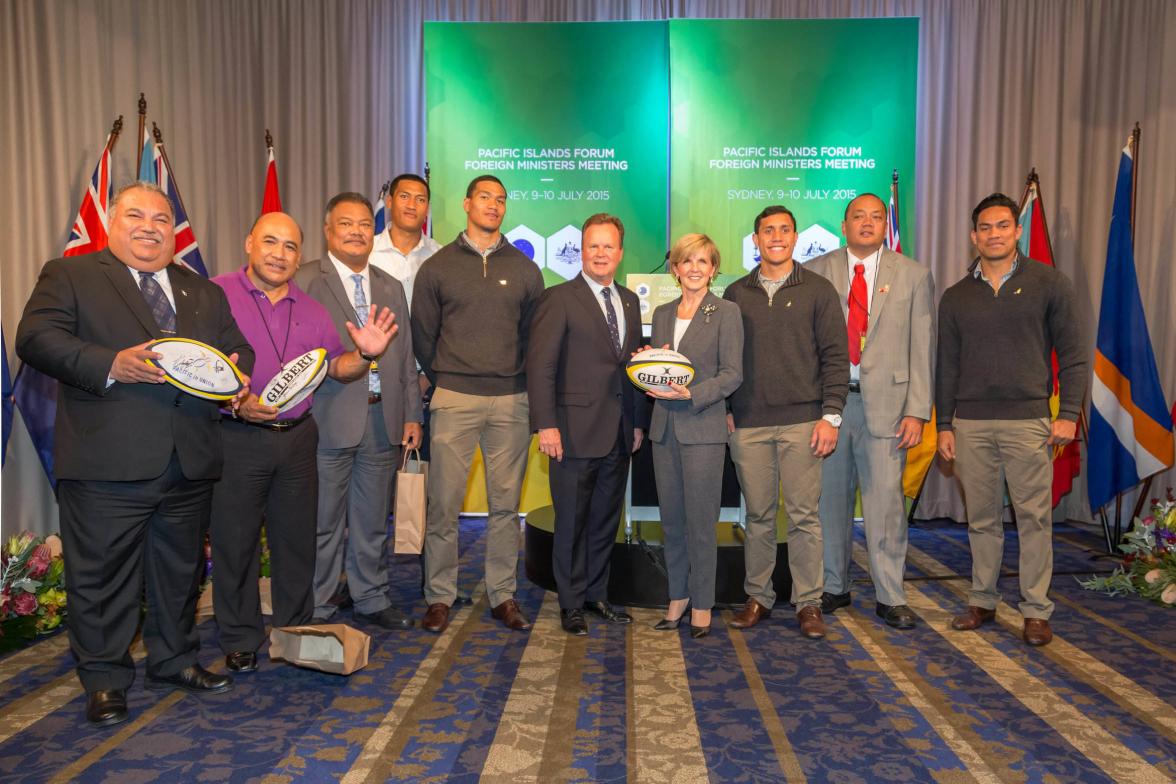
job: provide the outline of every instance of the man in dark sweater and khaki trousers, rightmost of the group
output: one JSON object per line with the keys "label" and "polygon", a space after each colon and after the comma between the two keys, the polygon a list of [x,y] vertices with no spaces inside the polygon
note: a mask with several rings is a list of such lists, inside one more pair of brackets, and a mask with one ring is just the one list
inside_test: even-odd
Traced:
{"label": "man in dark sweater and khaki trousers, rightmost of the group", "polygon": [[[1053,453],[1074,441],[1089,374],[1074,286],[1020,254],[1018,212],[997,193],[971,213],[980,256],[940,301],[935,416],[940,457],[955,461],[963,485],[971,544],[968,608],[951,628],[976,629],[996,617],[1003,475],[1017,518],[1022,636],[1045,645],[1054,610]],[[1050,422],[1054,353],[1060,407]]]}

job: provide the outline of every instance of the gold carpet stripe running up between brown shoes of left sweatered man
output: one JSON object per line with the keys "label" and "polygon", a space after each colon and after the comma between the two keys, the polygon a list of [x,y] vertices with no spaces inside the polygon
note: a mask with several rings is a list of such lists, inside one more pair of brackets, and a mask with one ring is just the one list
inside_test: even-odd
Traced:
{"label": "gold carpet stripe running up between brown shoes of left sweatered man", "polygon": [[[416,672],[405,684],[392,710],[368,736],[363,750],[343,776],[343,784],[383,782],[389,778],[386,769],[400,758],[408,738],[416,731],[420,713],[428,710],[446,675],[456,663],[462,644],[486,612],[485,588],[480,585],[472,598],[474,601],[472,607],[463,607],[453,612],[449,628],[433,643],[428,656],[421,661]],[[466,614],[465,618],[462,614]]]}

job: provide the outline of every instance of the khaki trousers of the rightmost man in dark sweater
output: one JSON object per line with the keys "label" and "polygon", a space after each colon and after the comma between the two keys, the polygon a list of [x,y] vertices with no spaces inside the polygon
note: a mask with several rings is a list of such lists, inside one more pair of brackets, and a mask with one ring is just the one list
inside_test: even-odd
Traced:
{"label": "khaki trousers of the rightmost man in dark sweater", "polygon": [[1054,576],[1054,464],[1048,418],[961,420],[956,434],[955,471],[963,485],[971,543],[971,592],[968,603],[995,609],[1001,601],[996,581],[1004,555],[1004,482],[1017,514],[1021,545],[1021,615],[1049,618],[1049,583]]}

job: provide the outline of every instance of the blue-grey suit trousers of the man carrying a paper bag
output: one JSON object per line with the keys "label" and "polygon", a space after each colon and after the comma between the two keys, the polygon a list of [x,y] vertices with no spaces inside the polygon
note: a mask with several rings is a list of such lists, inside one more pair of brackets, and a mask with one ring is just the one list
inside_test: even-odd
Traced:
{"label": "blue-grey suit trousers of the man carrying a paper bag", "polygon": [[[363,437],[346,449],[319,448],[319,521],[314,559],[314,615],[327,618],[329,603],[347,571],[355,610],[370,615],[388,601],[388,504],[400,462],[383,423],[382,403],[367,407]],[[346,542],[346,544],[345,544]]]}

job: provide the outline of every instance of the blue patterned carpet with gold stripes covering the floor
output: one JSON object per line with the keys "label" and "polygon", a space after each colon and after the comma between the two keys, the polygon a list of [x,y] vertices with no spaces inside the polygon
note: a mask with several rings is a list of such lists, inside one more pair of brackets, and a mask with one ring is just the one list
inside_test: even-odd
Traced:
{"label": "blue patterned carpet with gold stripes covering the floor", "polygon": [[[462,588],[445,635],[367,628],[367,669],[339,677],[272,663],[207,698],[129,692],[132,721],[91,729],[64,635],[0,659],[5,782],[1172,782],[1176,612],[1082,590],[1093,532],[1060,525],[1055,641],[1030,649],[1015,607],[954,632],[970,557],[963,527],[911,529],[908,592],[921,616],[854,608],[802,639],[764,624],[690,639],[629,628],[559,629],[554,596],[520,577],[530,634],[492,621],[479,587],[481,521],[462,522]],[[860,536],[860,531],[858,531]],[[1005,564],[1016,564],[1007,537]],[[397,603],[423,612],[415,558],[394,561]],[[1016,576],[1002,581],[1017,596]],[[201,661],[222,666],[215,624]],[[142,651],[138,652],[140,657]]]}

